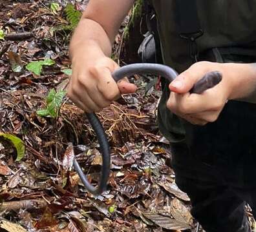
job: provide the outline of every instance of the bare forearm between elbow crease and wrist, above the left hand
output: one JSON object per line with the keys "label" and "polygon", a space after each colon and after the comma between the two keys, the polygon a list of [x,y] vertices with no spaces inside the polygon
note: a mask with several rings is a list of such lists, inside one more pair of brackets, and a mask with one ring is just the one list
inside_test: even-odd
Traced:
{"label": "bare forearm between elbow crease and wrist, above the left hand", "polygon": [[72,60],[76,53],[81,52],[110,56],[111,48],[111,39],[103,27],[96,21],[84,17],[72,36],[69,48],[70,59]]}

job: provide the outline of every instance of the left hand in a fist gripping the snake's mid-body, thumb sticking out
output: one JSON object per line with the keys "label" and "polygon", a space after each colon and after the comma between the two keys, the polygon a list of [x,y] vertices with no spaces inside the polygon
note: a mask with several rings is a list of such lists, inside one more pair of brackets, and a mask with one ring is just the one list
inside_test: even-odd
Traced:
{"label": "left hand in a fist gripping the snake's mid-body, thumb sticking out", "polygon": [[80,53],[73,57],[68,96],[79,108],[92,113],[109,106],[121,93],[134,93],[137,87],[128,79],[116,83],[112,78],[111,73],[118,67],[105,55]]}

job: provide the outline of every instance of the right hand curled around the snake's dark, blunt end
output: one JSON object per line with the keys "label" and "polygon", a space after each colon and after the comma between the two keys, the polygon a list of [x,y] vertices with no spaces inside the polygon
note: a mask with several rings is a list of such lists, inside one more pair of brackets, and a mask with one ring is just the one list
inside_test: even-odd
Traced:
{"label": "right hand curled around the snake's dark, blunt end", "polygon": [[[202,94],[189,93],[193,85],[208,72],[219,71],[222,81]],[[205,125],[218,119],[233,91],[231,66],[207,61],[193,64],[171,82],[167,108],[192,124]]]}

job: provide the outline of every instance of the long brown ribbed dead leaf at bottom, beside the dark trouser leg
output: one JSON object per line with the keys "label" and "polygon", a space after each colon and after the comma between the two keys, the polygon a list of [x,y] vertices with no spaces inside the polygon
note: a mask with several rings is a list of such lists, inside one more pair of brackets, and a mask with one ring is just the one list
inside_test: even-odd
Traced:
{"label": "long brown ribbed dead leaf at bottom, beside the dark trouser leg", "polygon": [[189,225],[187,225],[184,222],[179,222],[178,220],[169,218],[169,217],[163,217],[161,215],[155,214],[155,213],[143,213],[143,215],[146,218],[149,218],[151,221],[153,221],[156,225],[164,228],[164,229],[173,229],[173,230],[185,230],[185,229],[191,229]]}

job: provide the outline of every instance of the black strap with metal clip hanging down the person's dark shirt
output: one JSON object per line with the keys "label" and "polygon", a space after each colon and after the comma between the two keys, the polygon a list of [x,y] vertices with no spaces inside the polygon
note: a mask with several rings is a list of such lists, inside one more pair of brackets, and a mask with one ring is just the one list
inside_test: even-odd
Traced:
{"label": "black strap with metal clip hanging down the person's dark shirt", "polygon": [[197,12],[197,0],[175,0],[176,29],[182,39],[190,43],[190,56],[197,62],[196,40],[204,34]]}

